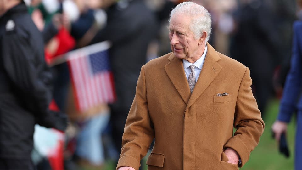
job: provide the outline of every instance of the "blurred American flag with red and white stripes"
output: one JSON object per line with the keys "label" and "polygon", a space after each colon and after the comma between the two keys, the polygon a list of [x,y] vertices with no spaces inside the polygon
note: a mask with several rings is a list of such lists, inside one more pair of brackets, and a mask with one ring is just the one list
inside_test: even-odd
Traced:
{"label": "blurred American flag with red and white stripes", "polygon": [[98,43],[67,54],[79,111],[115,101],[107,47]]}

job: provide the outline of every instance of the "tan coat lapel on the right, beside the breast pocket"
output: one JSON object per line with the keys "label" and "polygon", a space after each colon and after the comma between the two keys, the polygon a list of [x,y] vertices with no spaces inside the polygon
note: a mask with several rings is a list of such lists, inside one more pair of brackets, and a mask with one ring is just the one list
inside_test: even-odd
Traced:
{"label": "tan coat lapel on the right, beside the breast pocket", "polygon": [[215,49],[209,43],[207,43],[207,47],[208,51],[204,59],[204,65],[187,103],[186,110],[199,98],[222,69],[222,67],[217,63],[217,61],[220,60],[220,57]]}

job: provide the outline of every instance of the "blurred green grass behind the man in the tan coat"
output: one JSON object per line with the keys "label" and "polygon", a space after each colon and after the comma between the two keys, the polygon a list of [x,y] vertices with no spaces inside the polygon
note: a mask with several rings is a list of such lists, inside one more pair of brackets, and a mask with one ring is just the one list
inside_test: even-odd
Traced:
{"label": "blurred green grass behind the man in the tan coat", "polygon": [[[276,120],[279,109],[279,101],[272,100],[266,110],[265,114],[265,130],[260,138],[259,145],[252,151],[249,161],[240,168],[242,170],[292,170],[294,169],[294,133],[295,133],[295,123],[288,126],[288,145],[290,149],[290,157],[287,159],[281,155],[278,151],[278,145],[275,140],[271,138],[271,125]],[[146,156],[147,157],[147,156]],[[146,161],[144,158],[144,162]],[[144,169],[147,167],[144,164]],[[114,170],[112,163],[107,164],[106,170]]]}

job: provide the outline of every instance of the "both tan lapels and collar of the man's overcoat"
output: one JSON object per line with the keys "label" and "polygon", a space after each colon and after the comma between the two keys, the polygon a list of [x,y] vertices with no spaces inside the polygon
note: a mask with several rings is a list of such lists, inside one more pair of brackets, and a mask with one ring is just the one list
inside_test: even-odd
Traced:
{"label": "both tan lapels and collar of the man's overcoat", "polygon": [[186,110],[199,98],[222,69],[217,63],[221,58],[215,49],[209,43],[207,43],[207,47],[208,52],[204,60],[204,65],[192,94],[184,72],[182,60],[175,58],[172,53],[168,58],[170,62],[164,66],[171,82],[181,95],[183,101],[187,104]]}

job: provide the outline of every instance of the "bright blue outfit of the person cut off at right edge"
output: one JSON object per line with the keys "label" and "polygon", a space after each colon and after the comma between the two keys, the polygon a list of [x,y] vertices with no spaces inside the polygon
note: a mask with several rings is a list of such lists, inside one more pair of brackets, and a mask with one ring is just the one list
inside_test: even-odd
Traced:
{"label": "bright blue outfit of the person cut off at right edge", "polygon": [[[278,120],[290,122],[293,112],[297,110],[297,131],[295,142],[295,169],[302,170],[302,21],[294,23],[294,37],[291,68],[280,104]],[[298,102],[298,103],[297,103]]]}

